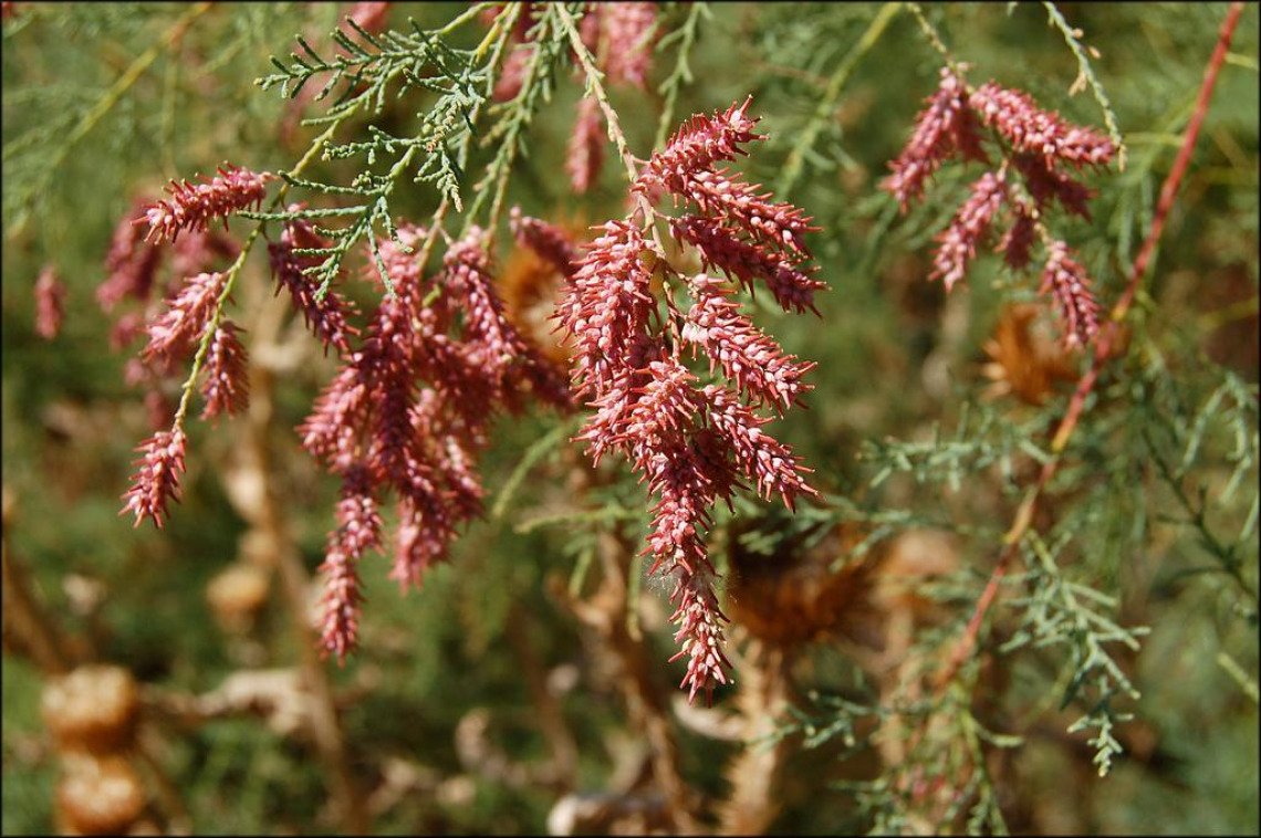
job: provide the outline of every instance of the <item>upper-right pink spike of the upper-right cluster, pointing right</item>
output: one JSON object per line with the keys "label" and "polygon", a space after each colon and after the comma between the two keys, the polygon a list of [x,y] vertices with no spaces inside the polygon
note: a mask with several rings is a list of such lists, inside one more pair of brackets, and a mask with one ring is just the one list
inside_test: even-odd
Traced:
{"label": "upper-right pink spike of the upper-right cluster, pointing right", "polygon": [[1018,151],[1042,155],[1048,168],[1058,160],[1077,168],[1103,165],[1116,154],[1111,140],[1091,129],[1064,122],[1058,113],[1038,107],[1021,91],[987,82],[972,93],[968,103]]}

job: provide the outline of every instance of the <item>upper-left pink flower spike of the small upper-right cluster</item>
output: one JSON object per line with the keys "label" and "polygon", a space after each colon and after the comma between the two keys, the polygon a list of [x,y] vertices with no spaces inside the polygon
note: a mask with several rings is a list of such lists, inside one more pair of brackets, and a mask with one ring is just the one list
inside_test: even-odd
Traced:
{"label": "upper-left pink flower spike of the small upper-right cluster", "polygon": [[963,79],[943,67],[941,84],[927,102],[915,118],[915,131],[907,147],[889,164],[893,174],[880,184],[893,193],[903,212],[923,194],[928,179],[948,158],[986,159],[976,116],[967,106]]}

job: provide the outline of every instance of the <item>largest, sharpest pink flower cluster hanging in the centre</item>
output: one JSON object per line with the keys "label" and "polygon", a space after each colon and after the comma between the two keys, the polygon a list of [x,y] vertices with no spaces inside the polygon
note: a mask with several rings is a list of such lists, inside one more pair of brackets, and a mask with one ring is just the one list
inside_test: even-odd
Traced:
{"label": "largest, sharpest pink flower cluster hanging in the centre", "polygon": [[[715,169],[762,139],[748,107],[747,101],[694,117],[653,155],[634,189],[644,197],[670,192],[691,205],[692,214],[671,219],[671,231],[696,247],[706,270],[749,289],[764,282],[786,310],[801,311],[813,307],[813,292],[823,287],[798,267],[802,234],[816,228],[801,209],[772,203],[757,187]],[[802,377],[813,364],[787,355],[754,326],[718,276],[675,272],[636,222],[639,212],[605,223],[588,244],[557,316],[575,349],[574,388],[595,408],[578,439],[596,462],[609,451],[625,455],[656,495],[646,549],[654,557],[651,572],[673,583],[676,658],[689,659],[682,680],[689,699],[701,691],[711,699],[715,686],[728,680],[729,662],[726,616],[714,592],[718,573],[705,546],[710,510],[745,481],[789,508],[798,495],[816,494],[792,450],[762,430],[769,417],[755,412],[782,413],[797,403],[810,389]],[[656,276],[667,281],[665,316]],[[676,291],[690,297],[686,309]],[[734,388],[699,383],[682,362],[685,347],[694,358],[709,358],[710,374],[721,369]]]}

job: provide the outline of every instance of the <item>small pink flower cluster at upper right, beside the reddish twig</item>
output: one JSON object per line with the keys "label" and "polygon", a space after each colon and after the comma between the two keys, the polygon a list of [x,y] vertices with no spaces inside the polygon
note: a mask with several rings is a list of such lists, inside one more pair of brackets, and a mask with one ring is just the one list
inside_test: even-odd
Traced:
{"label": "small pink flower cluster at upper right, beside the reddish twig", "polygon": [[943,161],[962,158],[989,165],[984,129],[992,131],[1002,164],[972,184],[970,195],[937,236],[929,278],[942,280],[947,291],[955,287],[1006,207],[1006,232],[995,250],[1019,271],[1030,265],[1033,244],[1042,239],[1047,257],[1039,292],[1054,300],[1066,325],[1066,343],[1084,347],[1098,329],[1098,302],[1086,268],[1069,257],[1062,241],[1049,237],[1043,219],[1054,204],[1090,219],[1088,202],[1095,193],[1074,174],[1087,165],[1108,164],[1116,154],[1111,140],[1043,111],[1028,93],[994,82],[970,93],[962,77],[943,68],[937,92],[919,113],[907,147],[890,164],[893,171],[883,187],[905,212]]}

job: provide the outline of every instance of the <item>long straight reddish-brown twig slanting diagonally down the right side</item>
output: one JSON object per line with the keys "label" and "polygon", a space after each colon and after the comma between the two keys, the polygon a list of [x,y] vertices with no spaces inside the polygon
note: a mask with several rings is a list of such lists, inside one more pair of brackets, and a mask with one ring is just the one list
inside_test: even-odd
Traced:
{"label": "long straight reddish-brown twig slanting diagonally down the right side", "polygon": [[1199,88],[1199,98],[1195,102],[1195,111],[1190,117],[1190,122],[1187,125],[1187,132],[1183,135],[1182,149],[1179,149],[1178,156],[1174,159],[1173,168],[1169,170],[1169,175],[1165,178],[1165,183],[1160,188],[1160,199],[1156,203],[1156,212],[1151,219],[1151,228],[1148,232],[1146,239],[1142,242],[1142,247],[1139,248],[1137,257],[1134,260],[1129,282],[1121,292],[1121,296],[1117,299],[1116,305],[1112,307],[1112,314],[1107,325],[1101,329],[1097,350],[1091,362],[1090,369],[1086,370],[1081,381],[1077,383],[1077,389],[1073,392],[1068,408],[1064,411],[1064,417],[1059,422],[1059,427],[1057,428],[1050,445],[1052,459],[1043,465],[1042,474],[1038,476],[1038,483],[1034,484],[1034,486],[1025,495],[1020,508],[1016,510],[1011,528],[1002,538],[1002,553],[999,556],[999,562],[995,565],[994,571],[990,575],[990,580],[986,583],[985,590],[981,592],[981,597],[976,602],[976,609],[972,612],[972,617],[967,623],[963,636],[960,638],[958,646],[956,646],[950,663],[938,678],[938,694],[941,694],[946,686],[953,680],[958,668],[963,665],[963,662],[967,660],[972,649],[976,646],[976,639],[980,634],[981,624],[985,621],[985,615],[989,612],[990,606],[997,596],[999,585],[1011,566],[1011,561],[1016,554],[1020,541],[1024,538],[1024,534],[1029,529],[1029,524],[1033,522],[1033,514],[1037,508],[1038,499],[1042,496],[1047,484],[1050,483],[1050,479],[1055,476],[1055,473],[1059,469],[1061,455],[1068,446],[1068,441],[1072,439],[1073,431],[1077,428],[1078,420],[1086,407],[1086,399],[1090,397],[1091,392],[1093,392],[1095,384],[1098,382],[1100,373],[1103,369],[1103,363],[1112,355],[1112,349],[1117,343],[1117,336],[1120,335],[1120,324],[1129,314],[1130,307],[1134,305],[1134,299],[1137,295],[1139,286],[1146,273],[1148,263],[1151,260],[1153,252],[1155,252],[1156,244],[1160,242],[1160,236],[1164,233],[1165,219],[1169,217],[1169,210],[1173,208],[1178,188],[1182,185],[1183,178],[1187,174],[1192,152],[1195,150],[1195,141],[1199,139],[1200,126],[1204,122],[1204,115],[1208,112],[1208,103],[1213,97],[1213,88],[1217,84],[1217,74],[1222,69],[1222,64],[1226,60],[1226,53],[1231,47],[1231,38],[1235,35],[1235,28],[1238,25],[1240,15],[1242,13],[1242,3],[1232,3],[1229,10],[1226,13],[1226,19],[1222,21],[1222,29],[1218,33],[1217,48],[1213,50],[1213,55],[1209,58],[1208,66],[1204,68],[1204,81]]}

